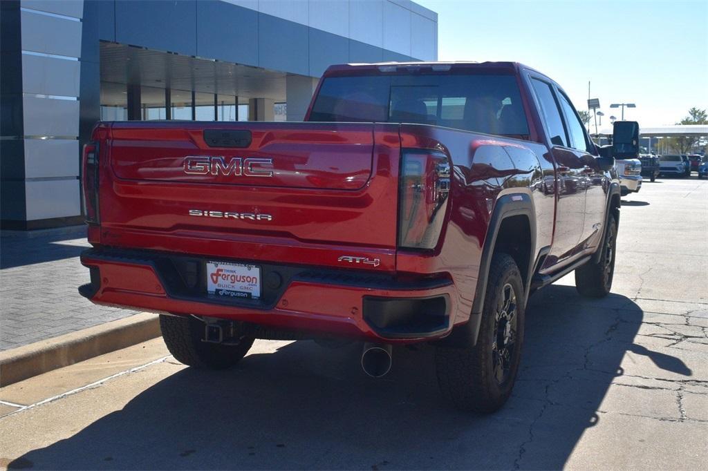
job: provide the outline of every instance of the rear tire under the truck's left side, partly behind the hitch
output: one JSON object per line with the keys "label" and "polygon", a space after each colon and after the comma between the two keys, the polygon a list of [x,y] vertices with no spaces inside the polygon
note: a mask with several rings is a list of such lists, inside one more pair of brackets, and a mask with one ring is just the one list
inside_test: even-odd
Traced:
{"label": "rear tire under the truck's left side, partly behind the hitch", "polygon": [[229,368],[244,358],[253,345],[250,335],[243,335],[238,345],[202,342],[204,322],[191,316],[160,315],[160,330],[172,356],[195,368]]}

